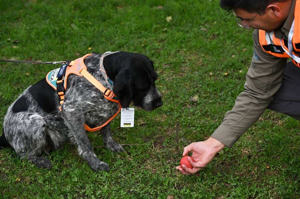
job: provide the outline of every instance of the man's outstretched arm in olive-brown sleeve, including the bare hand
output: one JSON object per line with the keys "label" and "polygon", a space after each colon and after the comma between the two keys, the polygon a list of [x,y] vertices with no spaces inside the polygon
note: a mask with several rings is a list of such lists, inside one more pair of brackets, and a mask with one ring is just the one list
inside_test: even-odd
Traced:
{"label": "man's outstretched arm in olive-brown sleeve, including the bare hand", "polygon": [[236,98],[222,124],[210,138],[184,148],[183,156],[193,151],[193,169],[177,166],[182,174],[194,174],[205,167],[223,147],[231,147],[238,138],[262,115],[280,88],[286,59],[265,53],[259,44],[258,30],[253,33],[253,58],[247,72],[244,91]]}

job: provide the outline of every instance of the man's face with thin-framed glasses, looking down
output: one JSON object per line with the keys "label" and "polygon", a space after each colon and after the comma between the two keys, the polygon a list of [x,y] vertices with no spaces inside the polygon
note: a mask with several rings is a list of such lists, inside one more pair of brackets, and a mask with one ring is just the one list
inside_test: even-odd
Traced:
{"label": "man's face with thin-framed glasses, looking down", "polygon": [[259,15],[257,13],[248,13],[242,9],[235,9],[233,11],[238,18],[246,24],[249,22],[248,25],[254,29],[272,32],[281,26],[279,19],[275,18],[273,15],[269,15],[268,12]]}

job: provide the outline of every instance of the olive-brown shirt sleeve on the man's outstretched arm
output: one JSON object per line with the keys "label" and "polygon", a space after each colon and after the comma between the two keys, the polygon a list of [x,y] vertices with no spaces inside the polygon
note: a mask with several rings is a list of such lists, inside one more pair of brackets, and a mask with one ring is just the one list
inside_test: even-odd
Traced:
{"label": "olive-brown shirt sleeve on the man's outstretched arm", "polygon": [[263,114],[280,88],[286,58],[272,56],[262,50],[258,30],[253,33],[253,57],[246,75],[244,91],[238,95],[231,111],[211,137],[231,147]]}

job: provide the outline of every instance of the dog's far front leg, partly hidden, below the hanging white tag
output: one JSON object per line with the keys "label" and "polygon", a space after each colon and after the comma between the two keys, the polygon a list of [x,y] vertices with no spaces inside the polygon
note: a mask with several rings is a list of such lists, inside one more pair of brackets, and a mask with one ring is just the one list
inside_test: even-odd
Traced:
{"label": "dog's far front leg, partly hidden, below the hanging white tag", "polygon": [[107,148],[114,152],[124,151],[122,146],[119,143],[117,143],[111,136],[110,123],[101,128],[100,132],[102,134],[103,142]]}

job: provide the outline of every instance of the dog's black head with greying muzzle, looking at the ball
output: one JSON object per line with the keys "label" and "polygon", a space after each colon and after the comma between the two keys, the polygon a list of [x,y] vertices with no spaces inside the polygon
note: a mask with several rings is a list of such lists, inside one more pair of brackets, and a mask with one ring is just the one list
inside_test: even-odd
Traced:
{"label": "dog's black head with greying muzzle, looking at the ball", "polygon": [[146,110],[163,105],[161,94],[155,86],[158,75],[153,62],[137,53],[116,52],[104,58],[104,68],[114,82],[113,92],[118,96],[122,107],[134,105]]}

